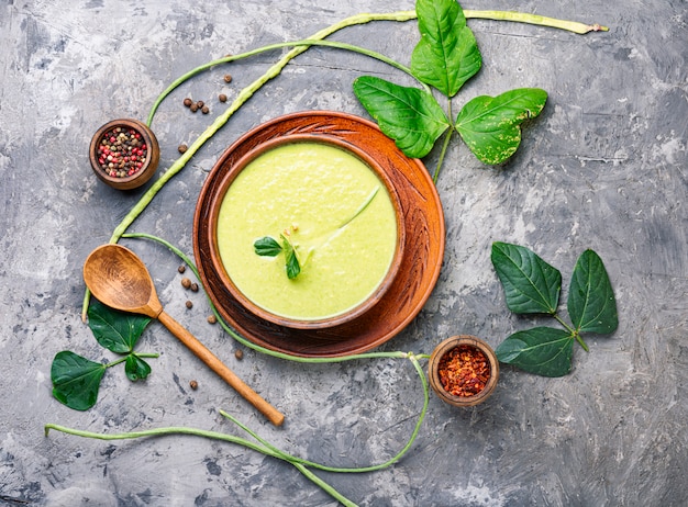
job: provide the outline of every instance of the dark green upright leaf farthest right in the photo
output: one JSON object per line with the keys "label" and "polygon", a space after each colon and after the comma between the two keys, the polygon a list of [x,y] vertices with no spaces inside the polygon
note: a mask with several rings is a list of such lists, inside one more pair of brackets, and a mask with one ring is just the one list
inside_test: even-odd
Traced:
{"label": "dark green upright leaf farthest right in the photo", "polygon": [[619,326],[617,301],[602,259],[592,250],[578,258],[568,291],[568,315],[578,331],[613,333]]}

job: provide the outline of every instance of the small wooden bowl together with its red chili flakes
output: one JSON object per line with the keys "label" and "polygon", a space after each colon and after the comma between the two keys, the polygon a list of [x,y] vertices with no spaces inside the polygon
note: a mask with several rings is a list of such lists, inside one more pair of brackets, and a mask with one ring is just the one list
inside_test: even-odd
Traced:
{"label": "small wooden bowl together with its red chili flakes", "polygon": [[453,336],[442,341],[428,363],[430,385],[443,402],[469,407],[485,402],[499,380],[499,361],[480,338]]}

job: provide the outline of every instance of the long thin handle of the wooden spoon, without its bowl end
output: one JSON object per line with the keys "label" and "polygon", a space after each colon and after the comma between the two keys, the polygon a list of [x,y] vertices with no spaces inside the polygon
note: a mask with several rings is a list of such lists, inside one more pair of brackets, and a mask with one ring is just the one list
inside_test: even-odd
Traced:
{"label": "long thin handle of the wooden spoon, without its bowl end", "polygon": [[181,324],[170,317],[165,311],[158,316],[158,320],[169,329],[191,352],[193,352],[201,361],[210,367],[218,375],[220,375],[228,384],[256,407],[270,422],[275,426],[281,426],[285,416],[278,412],[273,405],[267,403],[258,393],[248,387],[236,374],[230,370],[224,363],[218,359],[210,350],[206,348],[193,335],[187,331]]}

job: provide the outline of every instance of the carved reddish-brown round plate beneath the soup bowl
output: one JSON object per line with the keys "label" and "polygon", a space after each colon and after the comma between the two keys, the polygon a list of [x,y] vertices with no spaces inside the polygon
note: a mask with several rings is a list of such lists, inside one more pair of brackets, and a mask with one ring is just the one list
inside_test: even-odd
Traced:
{"label": "carved reddish-brown round plate beneath the soup bowl", "polygon": [[[336,139],[374,158],[397,190],[406,227],[401,266],[382,298],[359,317],[322,329],[279,326],[248,312],[230,292],[213,264],[218,193],[230,169],[246,154],[275,138],[313,136]],[[301,357],[339,357],[378,347],[401,331],[421,311],[435,286],[444,256],[444,215],[430,174],[404,156],[377,125],[326,111],[289,114],[252,129],[220,157],[199,195],[193,218],[193,254],[201,281],[222,317],[252,342]]]}

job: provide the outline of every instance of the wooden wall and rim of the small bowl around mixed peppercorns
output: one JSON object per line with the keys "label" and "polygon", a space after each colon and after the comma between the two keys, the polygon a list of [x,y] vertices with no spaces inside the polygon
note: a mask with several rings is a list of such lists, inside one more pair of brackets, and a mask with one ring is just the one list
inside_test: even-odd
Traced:
{"label": "wooden wall and rim of the small bowl around mixed peppercorns", "polygon": [[[101,142],[108,132],[116,127],[136,131],[146,146],[146,156],[142,161],[141,168],[137,168],[136,171],[130,176],[110,176],[100,164],[99,147]],[[93,172],[101,181],[106,182],[113,189],[130,190],[143,185],[151,178],[153,178],[160,159],[160,147],[157,143],[155,134],[153,134],[153,131],[151,131],[145,123],[131,119],[113,120],[101,126],[91,138],[89,158]]]}

